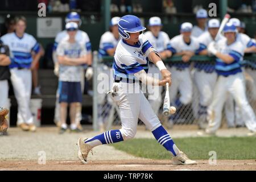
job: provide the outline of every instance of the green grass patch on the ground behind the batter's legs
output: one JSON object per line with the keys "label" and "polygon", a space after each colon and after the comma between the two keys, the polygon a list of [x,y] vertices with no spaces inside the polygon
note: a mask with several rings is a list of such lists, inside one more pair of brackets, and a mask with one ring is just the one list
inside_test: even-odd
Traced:
{"label": "green grass patch on the ground behind the batter's legs", "polygon": [[[191,159],[209,159],[216,151],[217,159],[256,159],[255,137],[176,138],[176,146]],[[155,139],[131,139],[114,143],[117,150],[148,159],[170,159],[170,152]]]}

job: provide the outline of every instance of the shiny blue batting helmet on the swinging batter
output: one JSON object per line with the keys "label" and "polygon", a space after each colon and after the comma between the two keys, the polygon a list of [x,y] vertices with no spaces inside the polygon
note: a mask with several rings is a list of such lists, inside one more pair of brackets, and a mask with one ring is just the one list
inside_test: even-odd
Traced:
{"label": "shiny blue batting helmet on the swinging batter", "polygon": [[141,20],[134,15],[125,15],[118,21],[118,32],[123,39],[129,39],[129,33],[136,33],[146,30],[141,25]]}

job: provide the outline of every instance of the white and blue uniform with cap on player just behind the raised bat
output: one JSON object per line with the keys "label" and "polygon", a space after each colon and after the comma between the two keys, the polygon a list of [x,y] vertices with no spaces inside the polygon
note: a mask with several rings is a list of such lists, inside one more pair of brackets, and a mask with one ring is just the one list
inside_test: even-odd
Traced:
{"label": "white and blue uniform with cap on player just behind the raised bat", "polygon": [[[220,22],[217,19],[210,19],[208,22],[209,28],[220,27]],[[218,36],[217,40],[224,39],[224,36]],[[197,39],[200,43],[200,51],[207,49],[210,42],[213,41],[209,31],[204,32]],[[199,100],[193,100],[194,115],[197,116],[199,126],[201,129],[206,127],[207,124],[207,107],[212,102],[212,94],[214,85],[217,80],[217,73],[215,72],[215,63],[208,61],[197,61],[194,64],[193,78],[196,87],[193,88],[193,97],[199,97]]]}

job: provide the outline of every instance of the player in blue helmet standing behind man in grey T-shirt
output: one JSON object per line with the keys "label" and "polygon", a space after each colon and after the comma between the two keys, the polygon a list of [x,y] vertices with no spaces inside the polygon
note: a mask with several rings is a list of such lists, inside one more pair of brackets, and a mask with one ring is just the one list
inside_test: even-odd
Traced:
{"label": "player in blue helmet standing behind man in grey T-shirt", "polygon": [[[81,18],[80,15],[76,12],[71,12],[67,15],[65,22],[75,22],[77,23],[79,26],[81,26]],[[52,57],[53,57],[53,61],[55,63],[55,75],[59,74],[59,64],[57,61],[57,57],[56,57],[56,48],[57,45],[59,44],[59,42],[61,40],[67,40],[68,39],[68,33],[66,30],[63,30],[61,32],[59,32],[55,38],[55,43],[54,43],[54,50],[52,53]],[[90,65],[92,65],[92,47],[90,44],[90,39],[89,36],[86,34],[86,32],[82,31],[82,30],[78,30],[77,34],[76,34],[76,40],[79,41],[80,44],[84,45],[84,47],[86,48],[87,51],[87,59],[88,59],[88,63],[87,65],[89,66],[89,68],[86,69],[86,77],[88,78],[88,80],[92,77],[92,68],[90,67]],[[81,92],[84,92],[84,71],[81,72]],[[58,91],[56,94],[56,104],[55,104],[55,123],[57,124],[59,122],[59,95],[58,95]],[[80,121],[82,119],[82,108],[81,106],[79,106],[80,108],[77,110],[77,114],[76,114],[76,123],[77,126],[79,127],[80,130],[82,130],[81,125],[80,125]],[[57,126],[59,126],[57,124]]]}

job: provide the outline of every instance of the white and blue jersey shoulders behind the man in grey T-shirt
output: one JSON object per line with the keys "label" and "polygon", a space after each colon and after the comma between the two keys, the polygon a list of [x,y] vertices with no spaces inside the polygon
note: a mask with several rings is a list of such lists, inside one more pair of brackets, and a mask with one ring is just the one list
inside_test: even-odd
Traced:
{"label": "white and blue jersey shoulders behind the man in grey T-shirt", "polygon": [[[68,36],[67,30],[63,30],[63,31],[59,32],[55,38],[54,49],[56,50],[58,44],[62,40],[68,40],[68,38],[69,38],[69,36]],[[85,49],[88,52],[88,54],[92,51],[90,39],[89,39],[88,34],[86,34],[86,32],[78,30],[76,33],[76,36],[75,36],[75,40],[85,46]]]}

